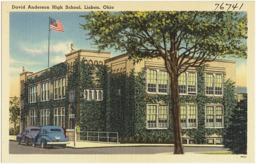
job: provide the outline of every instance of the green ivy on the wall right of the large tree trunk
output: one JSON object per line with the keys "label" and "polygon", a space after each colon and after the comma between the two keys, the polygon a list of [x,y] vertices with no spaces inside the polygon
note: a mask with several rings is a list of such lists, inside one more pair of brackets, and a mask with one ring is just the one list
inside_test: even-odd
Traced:
{"label": "green ivy on the wall right of the large tree trunk", "polygon": [[204,67],[205,65],[197,69],[197,88],[198,95],[197,99],[188,96],[180,97],[180,103],[196,103],[198,109],[198,127],[194,129],[182,129],[182,134],[186,134],[190,137],[195,138],[195,144],[205,144],[206,135],[224,135],[224,129],[217,128],[205,128],[205,105],[207,104],[218,104],[224,106],[224,127],[228,127],[230,124],[230,118],[232,111],[235,109],[235,86],[234,82],[227,80],[224,87],[224,98],[221,97],[206,97],[205,96],[205,78],[204,78]]}

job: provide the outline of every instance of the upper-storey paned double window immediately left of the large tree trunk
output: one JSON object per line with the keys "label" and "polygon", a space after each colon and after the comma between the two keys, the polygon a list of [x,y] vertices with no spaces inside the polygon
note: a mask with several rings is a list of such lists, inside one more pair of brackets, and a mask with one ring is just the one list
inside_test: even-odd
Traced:
{"label": "upper-storey paned double window immediately left of the large tree trunk", "polygon": [[164,70],[147,70],[147,92],[168,94],[168,73]]}

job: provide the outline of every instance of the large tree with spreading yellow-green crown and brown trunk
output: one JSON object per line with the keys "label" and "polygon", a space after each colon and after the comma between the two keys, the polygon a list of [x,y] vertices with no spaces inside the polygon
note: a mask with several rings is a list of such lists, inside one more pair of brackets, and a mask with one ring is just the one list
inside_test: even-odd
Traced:
{"label": "large tree with spreading yellow-green crown and brown trunk", "polygon": [[178,77],[217,57],[246,58],[243,12],[90,12],[81,25],[99,50],[131,53],[134,62],[163,58],[170,76],[174,154],[183,154]]}

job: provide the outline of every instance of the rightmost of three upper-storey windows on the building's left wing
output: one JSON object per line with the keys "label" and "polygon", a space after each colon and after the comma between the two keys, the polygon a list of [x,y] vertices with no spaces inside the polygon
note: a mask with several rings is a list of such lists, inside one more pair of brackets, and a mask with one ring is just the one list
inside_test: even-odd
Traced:
{"label": "rightmost of three upper-storey windows on the building's left wing", "polygon": [[65,78],[60,78],[54,81],[54,99],[65,98],[66,92],[66,80]]}

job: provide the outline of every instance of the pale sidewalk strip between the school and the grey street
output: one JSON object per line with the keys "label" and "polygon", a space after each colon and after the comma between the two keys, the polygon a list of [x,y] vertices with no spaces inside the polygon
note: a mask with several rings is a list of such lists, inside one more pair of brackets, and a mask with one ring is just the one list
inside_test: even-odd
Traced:
{"label": "pale sidewalk strip between the school and the grey street", "polygon": [[[16,141],[16,136],[9,135],[9,140]],[[174,146],[174,144],[138,144],[138,143],[98,143],[88,141],[77,141],[74,146],[74,141],[69,141],[67,147],[82,149],[82,148],[95,148],[95,147],[126,147],[126,146]],[[201,144],[183,144],[188,147],[223,147],[223,145],[201,145]]]}

